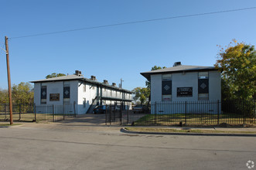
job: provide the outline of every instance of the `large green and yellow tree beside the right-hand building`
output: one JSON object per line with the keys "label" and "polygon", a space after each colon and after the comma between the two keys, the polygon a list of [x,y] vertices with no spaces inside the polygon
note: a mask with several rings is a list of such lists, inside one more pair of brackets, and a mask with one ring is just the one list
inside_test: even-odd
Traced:
{"label": "large green and yellow tree beside the right-hand building", "polygon": [[256,51],[254,46],[233,40],[227,49],[220,48],[215,66],[221,71],[226,96],[250,100],[256,93]]}

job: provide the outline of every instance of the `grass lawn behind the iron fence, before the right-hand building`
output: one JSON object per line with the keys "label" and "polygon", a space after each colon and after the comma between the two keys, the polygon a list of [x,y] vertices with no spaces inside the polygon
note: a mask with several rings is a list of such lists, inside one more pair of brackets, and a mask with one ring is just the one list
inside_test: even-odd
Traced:
{"label": "grass lawn behind the iron fence, before the right-hand building", "polygon": [[[135,125],[218,124],[217,114],[147,114],[134,122]],[[244,117],[237,114],[220,114],[219,124],[244,124]],[[256,124],[255,118],[245,118],[245,124]]]}

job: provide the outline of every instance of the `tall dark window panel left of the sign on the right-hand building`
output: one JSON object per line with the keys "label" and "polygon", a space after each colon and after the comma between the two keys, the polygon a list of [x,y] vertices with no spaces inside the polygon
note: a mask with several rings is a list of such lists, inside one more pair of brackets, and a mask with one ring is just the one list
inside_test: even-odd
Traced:
{"label": "tall dark window panel left of the sign on the right-hand building", "polygon": [[162,75],[162,101],[172,100],[172,74]]}

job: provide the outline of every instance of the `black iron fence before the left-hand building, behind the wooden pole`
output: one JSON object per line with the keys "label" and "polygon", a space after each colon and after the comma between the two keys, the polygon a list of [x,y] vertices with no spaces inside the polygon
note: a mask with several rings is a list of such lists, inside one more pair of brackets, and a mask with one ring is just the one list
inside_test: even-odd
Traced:
{"label": "black iron fence before the left-hand building, behind the wooden pole", "polygon": [[[40,105],[13,104],[13,121],[62,121],[67,117],[76,117],[74,104],[67,105]],[[9,104],[0,104],[0,121],[9,121]]]}

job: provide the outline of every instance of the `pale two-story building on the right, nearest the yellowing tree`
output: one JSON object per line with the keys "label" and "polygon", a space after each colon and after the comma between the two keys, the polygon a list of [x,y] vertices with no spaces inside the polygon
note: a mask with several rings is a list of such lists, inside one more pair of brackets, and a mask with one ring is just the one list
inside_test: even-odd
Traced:
{"label": "pale two-story building on the right, nearest the yellowing tree", "polygon": [[214,66],[172,67],[141,73],[151,82],[151,104],[155,102],[221,100],[220,72]]}

